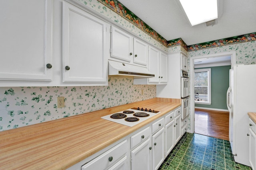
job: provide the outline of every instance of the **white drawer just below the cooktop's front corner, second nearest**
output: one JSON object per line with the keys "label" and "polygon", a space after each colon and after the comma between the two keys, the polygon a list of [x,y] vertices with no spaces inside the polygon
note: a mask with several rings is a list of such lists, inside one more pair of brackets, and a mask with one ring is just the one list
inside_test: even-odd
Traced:
{"label": "white drawer just below the cooktop's front corner, second nearest", "polygon": [[149,126],[143,129],[142,131],[136,133],[135,135],[131,136],[131,149],[141,143],[142,141],[146,140],[150,137],[150,128]]}

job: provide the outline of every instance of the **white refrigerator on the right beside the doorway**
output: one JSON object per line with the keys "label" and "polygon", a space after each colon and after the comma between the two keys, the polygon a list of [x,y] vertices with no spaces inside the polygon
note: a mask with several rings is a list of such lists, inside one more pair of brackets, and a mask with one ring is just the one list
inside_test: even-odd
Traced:
{"label": "white refrigerator on the right beside the doorway", "polygon": [[256,64],[234,65],[230,70],[230,87],[227,92],[229,141],[234,160],[251,166],[249,162],[249,117],[256,112]]}

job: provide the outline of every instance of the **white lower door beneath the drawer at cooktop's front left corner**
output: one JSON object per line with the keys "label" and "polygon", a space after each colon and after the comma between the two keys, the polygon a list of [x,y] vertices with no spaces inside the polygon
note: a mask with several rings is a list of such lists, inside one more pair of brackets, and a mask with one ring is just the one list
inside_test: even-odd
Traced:
{"label": "white lower door beneath the drawer at cooktop's front left corner", "polygon": [[131,169],[152,169],[152,147],[150,138],[131,151]]}

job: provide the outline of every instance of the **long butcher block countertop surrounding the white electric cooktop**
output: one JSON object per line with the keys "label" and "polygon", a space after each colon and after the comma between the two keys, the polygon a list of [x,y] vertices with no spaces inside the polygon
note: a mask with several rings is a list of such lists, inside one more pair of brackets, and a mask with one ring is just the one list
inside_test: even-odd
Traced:
{"label": "long butcher block countertop surrounding the white electric cooktop", "polygon": [[[66,169],[180,105],[179,99],[153,98],[2,131],[0,169]],[[133,127],[100,118],[132,107],[151,108],[161,113]]]}

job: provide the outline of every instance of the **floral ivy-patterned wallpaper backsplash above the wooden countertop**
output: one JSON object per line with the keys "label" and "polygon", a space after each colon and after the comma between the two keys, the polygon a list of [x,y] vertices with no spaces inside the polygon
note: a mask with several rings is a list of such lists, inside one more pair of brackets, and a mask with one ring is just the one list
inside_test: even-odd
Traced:
{"label": "floral ivy-patterned wallpaper backsplash above the wooden countertop", "polygon": [[[142,95],[143,89],[143,95]],[[57,108],[57,97],[65,107]],[[0,131],[156,97],[156,85],[109,77],[108,86],[1,87]]]}

